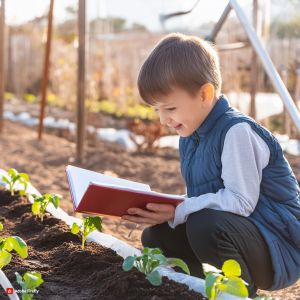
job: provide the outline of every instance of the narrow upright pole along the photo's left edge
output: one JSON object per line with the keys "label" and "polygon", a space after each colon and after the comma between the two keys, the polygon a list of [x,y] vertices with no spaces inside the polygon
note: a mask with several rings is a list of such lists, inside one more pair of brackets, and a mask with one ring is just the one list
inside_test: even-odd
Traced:
{"label": "narrow upright pole along the photo's left edge", "polygon": [[5,0],[0,1],[0,134],[3,131],[4,107],[4,33],[5,33]]}

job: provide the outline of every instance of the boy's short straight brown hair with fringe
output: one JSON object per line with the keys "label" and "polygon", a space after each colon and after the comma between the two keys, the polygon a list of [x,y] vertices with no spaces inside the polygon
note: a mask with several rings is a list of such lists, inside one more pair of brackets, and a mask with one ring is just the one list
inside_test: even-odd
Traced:
{"label": "boy's short straight brown hair with fringe", "polygon": [[140,95],[149,104],[176,87],[195,95],[205,83],[211,83],[218,95],[222,85],[218,54],[208,42],[180,33],[169,34],[158,43],[138,77]]}

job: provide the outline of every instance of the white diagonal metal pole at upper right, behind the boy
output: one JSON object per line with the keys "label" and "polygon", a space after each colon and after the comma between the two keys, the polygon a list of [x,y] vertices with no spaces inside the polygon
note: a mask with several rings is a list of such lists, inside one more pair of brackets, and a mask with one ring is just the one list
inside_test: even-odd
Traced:
{"label": "white diagonal metal pole at upper right, behind the boy", "polygon": [[246,31],[248,38],[250,39],[250,42],[252,46],[254,47],[258,57],[261,59],[261,62],[263,64],[263,67],[268,74],[268,76],[271,79],[271,82],[280,95],[283,103],[285,104],[288,112],[290,113],[291,118],[293,119],[296,127],[300,131],[300,114],[299,111],[297,110],[297,107],[289,94],[286,86],[282,82],[277,70],[275,69],[268,53],[262,46],[261,41],[257,37],[257,34],[255,33],[253,27],[251,26],[247,16],[241,9],[240,5],[236,0],[230,0],[230,5],[236,12],[236,15],[238,19],[240,20],[244,30]]}

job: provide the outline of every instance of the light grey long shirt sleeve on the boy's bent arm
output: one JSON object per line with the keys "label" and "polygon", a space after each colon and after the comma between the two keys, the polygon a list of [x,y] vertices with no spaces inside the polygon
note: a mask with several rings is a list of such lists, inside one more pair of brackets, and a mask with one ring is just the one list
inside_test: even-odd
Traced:
{"label": "light grey long shirt sleeve on the boy's bent arm", "polygon": [[185,198],[169,225],[175,228],[203,208],[232,212],[248,217],[257,204],[262,170],[268,165],[270,150],[248,123],[232,126],[224,140],[221,178],[224,188],[217,193]]}

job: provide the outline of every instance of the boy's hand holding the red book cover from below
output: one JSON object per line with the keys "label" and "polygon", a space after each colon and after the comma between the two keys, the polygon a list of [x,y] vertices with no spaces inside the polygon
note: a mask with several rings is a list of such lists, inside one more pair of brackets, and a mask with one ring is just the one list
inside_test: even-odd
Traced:
{"label": "boy's hand holding the red book cover from below", "polygon": [[172,204],[148,203],[146,210],[132,207],[127,212],[128,215],[122,216],[123,220],[138,224],[156,225],[173,220],[175,206]]}

